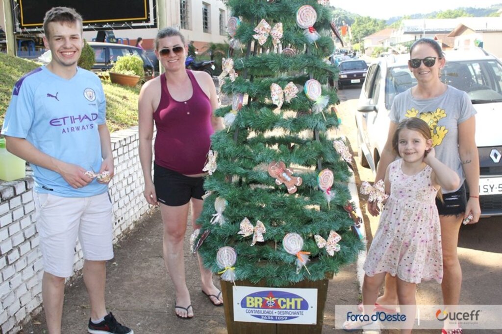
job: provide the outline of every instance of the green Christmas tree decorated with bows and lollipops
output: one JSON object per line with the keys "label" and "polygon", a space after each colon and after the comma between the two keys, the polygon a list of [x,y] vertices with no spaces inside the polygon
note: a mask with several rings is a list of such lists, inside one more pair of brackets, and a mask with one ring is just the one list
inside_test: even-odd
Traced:
{"label": "green Christmas tree decorated with bows and lollipops", "polygon": [[325,62],[332,10],[323,0],[226,3],[230,45],[244,56],[223,64],[233,103],[216,111],[226,129],[212,136],[192,246],[202,243],[204,265],[222,278],[324,279],[363,249],[351,230],[360,221],[347,188],[352,157],[333,141],[338,99],[324,85],[337,71]]}

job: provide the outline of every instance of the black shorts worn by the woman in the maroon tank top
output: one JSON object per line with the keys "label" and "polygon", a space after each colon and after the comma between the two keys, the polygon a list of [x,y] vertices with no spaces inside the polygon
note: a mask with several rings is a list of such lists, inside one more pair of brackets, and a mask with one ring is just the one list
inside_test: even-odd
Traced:
{"label": "black shorts worn by the woman in the maroon tank top", "polygon": [[169,206],[188,203],[190,198],[202,199],[204,178],[189,177],[154,163],[154,185],[157,200]]}

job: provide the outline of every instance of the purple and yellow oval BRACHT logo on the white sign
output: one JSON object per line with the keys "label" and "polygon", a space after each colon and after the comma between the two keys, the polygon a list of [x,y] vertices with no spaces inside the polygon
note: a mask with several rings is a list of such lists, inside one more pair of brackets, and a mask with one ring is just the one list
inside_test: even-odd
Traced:
{"label": "purple and yellow oval BRACHT logo on the white sign", "polygon": [[309,303],[295,293],[264,290],[244,296],[240,307],[259,319],[285,321],[304,315],[309,309]]}

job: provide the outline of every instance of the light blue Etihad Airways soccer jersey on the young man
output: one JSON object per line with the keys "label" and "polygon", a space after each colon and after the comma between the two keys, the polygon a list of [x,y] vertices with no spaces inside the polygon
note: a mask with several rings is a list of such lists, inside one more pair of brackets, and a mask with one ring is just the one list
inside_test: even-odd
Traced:
{"label": "light blue Etihad Airways soccer jersey on the young man", "polygon": [[[106,102],[101,81],[78,68],[67,80],[40,67],[21,78],[12,93],[2,134],[26,138],[40,151],[85,170],[101,167],[97,126],[105,124]],[[63,197],[87,197],[107,191],[93,180],[74,189],[56,172],[31,164],[35,191]]]}

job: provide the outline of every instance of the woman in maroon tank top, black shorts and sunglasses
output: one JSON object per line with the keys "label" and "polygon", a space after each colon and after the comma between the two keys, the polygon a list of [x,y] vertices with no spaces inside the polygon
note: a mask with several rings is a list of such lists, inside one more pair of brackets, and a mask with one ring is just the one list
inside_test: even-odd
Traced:
{"label": "woman in maroon tank top, black shorts and sunglasses", "polygon": [[[204,72],[185,69],[188,46],[180,32],[174,28],[161,29],[155,48],[165,74],[143,85],[138,107],[144,195],[149,204],[160,206],[164,263],[175,289],[175,313],[181,318],[191,318],[193,308],[185,280],[183,241],[189,207],[194,229],[202,211],[205,174],[202,168],[210,146],[209,137],[223,126],[213,114],[218,99],[212,78]],[[152,179],[154,123],[157,133]],[[202,292],[220,306],[221,292],[212,281],[211,271],[198,259]]]}

